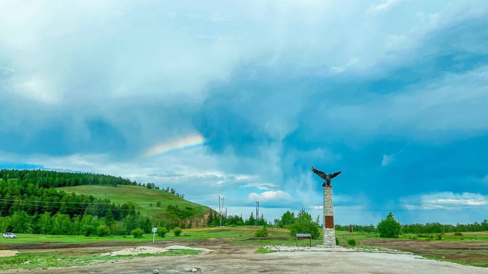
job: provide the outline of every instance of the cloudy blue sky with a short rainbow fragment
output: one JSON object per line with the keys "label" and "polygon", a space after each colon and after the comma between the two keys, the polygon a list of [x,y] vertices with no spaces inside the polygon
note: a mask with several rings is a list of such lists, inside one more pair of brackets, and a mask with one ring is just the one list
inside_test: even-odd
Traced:
{"label": "cloudy blue sky with a short rainbow fragment", "polygon": [[[0,168],[266,219],[488,219],[484,0],[0,2]],[[322,217],[320,217],[322,220]]]}

